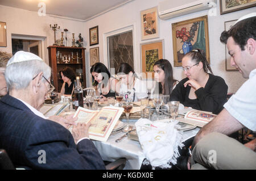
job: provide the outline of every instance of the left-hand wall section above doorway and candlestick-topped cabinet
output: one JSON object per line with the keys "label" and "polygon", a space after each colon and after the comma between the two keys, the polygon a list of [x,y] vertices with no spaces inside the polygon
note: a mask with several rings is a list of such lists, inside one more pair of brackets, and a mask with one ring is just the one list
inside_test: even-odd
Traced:
{"label": "left-hand wall section above doorway and candlestick-topped cabinet", "polygon": [[[11,34],[44,37],[43,59],[48,63],[47,47],[54,43],[54,32],[49,24],[58,24],[60,30],[56,31],[56,40],[60,39],[61,32],[67,28],[68,46],[72,45],[72,33],[78,39],[79,33],[85,34],[85,23],[74,20],[51,17],[49,15],[39,16],[38,12],[17,9],[0,5],[0,21],[6,22],[7,47],[0,47],[0,51],[12,53]],[[65,32],[64,32],[65,40]]]}

